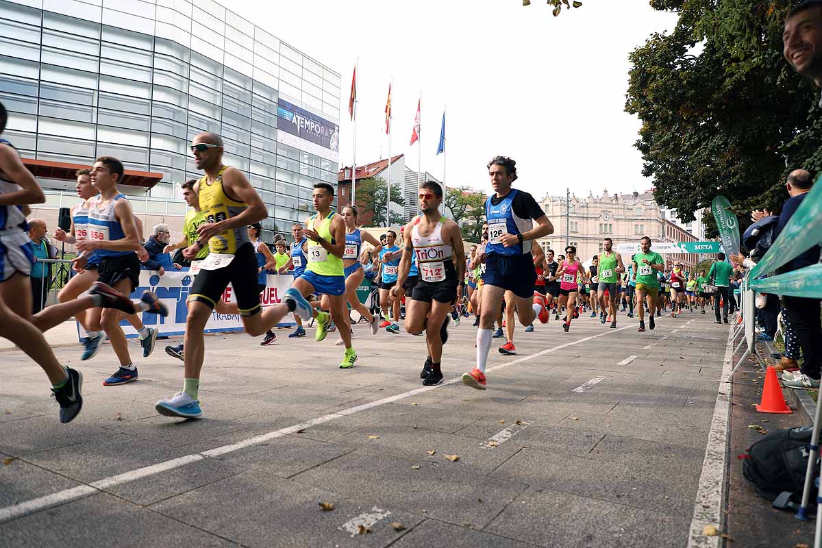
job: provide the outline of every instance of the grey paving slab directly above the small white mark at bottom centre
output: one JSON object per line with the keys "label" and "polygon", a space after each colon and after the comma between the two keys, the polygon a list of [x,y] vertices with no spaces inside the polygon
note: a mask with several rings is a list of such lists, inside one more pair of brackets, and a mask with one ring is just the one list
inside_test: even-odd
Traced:
{"label": "grey paving slab directly above the small white mark at bottom centre", "polygon": [[[361,500],[379,497],[382,504],[478,528],[524,489],[522,483],[494,477],[477,481],[475,473],[454,466],[458,464],[445,458],[434,463],[387,455],[373,458],[370,453],[355,451],[294,479]],[[419,470],[411,468],[416,465],[421,466]]]}

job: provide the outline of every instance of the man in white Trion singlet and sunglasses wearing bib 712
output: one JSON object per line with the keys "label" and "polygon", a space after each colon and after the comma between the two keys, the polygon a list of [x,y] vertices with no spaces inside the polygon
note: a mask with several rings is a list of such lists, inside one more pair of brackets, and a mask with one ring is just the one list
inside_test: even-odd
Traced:
{"label": "man in white Trion singlet and sunglasses wearing bib 712", "polygon": [[416,256],[420,280],[405,301],[405,330],[414,335],[425,330],[428,356],[420,374],[425,386],[442,382],[442,345],[448,340],[448,315],[459,280],[465,274],[462,233],[454,221],[440,214],[441,203],[442,187],[436,182],[423,182],[419,189],[423,214],[404,227],[403,257],[397,283],[391,289],[395,300],[404,296],[412,255]]}

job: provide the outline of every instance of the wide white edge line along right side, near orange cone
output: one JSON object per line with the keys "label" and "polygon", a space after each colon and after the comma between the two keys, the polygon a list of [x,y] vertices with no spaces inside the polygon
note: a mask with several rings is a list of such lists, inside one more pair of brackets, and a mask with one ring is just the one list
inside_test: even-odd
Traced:
{"label": "wide white edge line along right side, near orange cone", "polygon": [[706,525],[723,530],[723,501],[725,500],[725,468],[727,465],[727,423],[731,408],[731,370],[733,366],[733,329],[728,329],[722,377],[713,408],[708,444],[702,462],[700,484],[696,489],[694,518],[690,522],[687,548],[718,548],[721,536],[704,536]]}

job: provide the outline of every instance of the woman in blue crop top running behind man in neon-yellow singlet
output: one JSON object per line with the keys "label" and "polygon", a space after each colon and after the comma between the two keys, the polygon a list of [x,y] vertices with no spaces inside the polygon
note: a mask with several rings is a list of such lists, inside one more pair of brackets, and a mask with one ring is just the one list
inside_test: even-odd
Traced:
{"label": "woman in blue crop top running behind man in neon-yellow singlet", "polygon": [[[367,261],[368,256],[374,252],[379,253],[382,246],[376,237],[357,228],[358,217],[359,211],[353,205],[346,205],[343,208],[343,220],[345,223],[345,251],[343,254],[345,298],[351,308],[358,311],[359,314],[368,321],[368,325],[371,327],[371,334],[376,335],[380,330],[380,316],[373,315],[362,302],[359,302],[357,288],[360,286],[360,283],[363,283],[363,279],[365,278],[363,261]],[[372,251],[364,250],[363,241],[370,243],[374,246],[374,249]],[[345,322],[349,324],[350,329],[349,314],[347,313],[343,317]],[[342,343],[343,339],[339,338],[335,344],[339,346]]]}

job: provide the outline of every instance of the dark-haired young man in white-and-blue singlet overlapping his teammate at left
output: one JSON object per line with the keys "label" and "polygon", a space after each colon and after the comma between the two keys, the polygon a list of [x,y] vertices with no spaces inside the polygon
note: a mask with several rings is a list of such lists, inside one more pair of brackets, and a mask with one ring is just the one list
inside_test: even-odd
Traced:
{"label": "dark-haired young man in white-and-blue singlet overlapping his teammate at left", "polygon": [[[74,260],[76,269],[85,269],[92,253],[99,257],[98,279],[128,295],[140,284],[140,260],[136,250],[141,248],[132,205],[118,187],[125,169],[120,160],[112,156],[101,156],[91,168],[91,184],[99,191],[99,196],[88,200],[88,237],[76,241],[81,255]],[[148,298],[153,293],[148,294]],[[145,295],[144,295],[145,297]],[[145,302],[148,311],[162,313],[162,306],[156,297]],[[167,312],[166,312],[167,313]],[[138,378],[136,366],[129,356],[126,335],[120,327],[120,311],[94,309],[86,316],[88,322],[88,342],[81,360],[90,360],[102,348],[104,337],[118,357],[120,366],[104,386],[124,385]]]}

